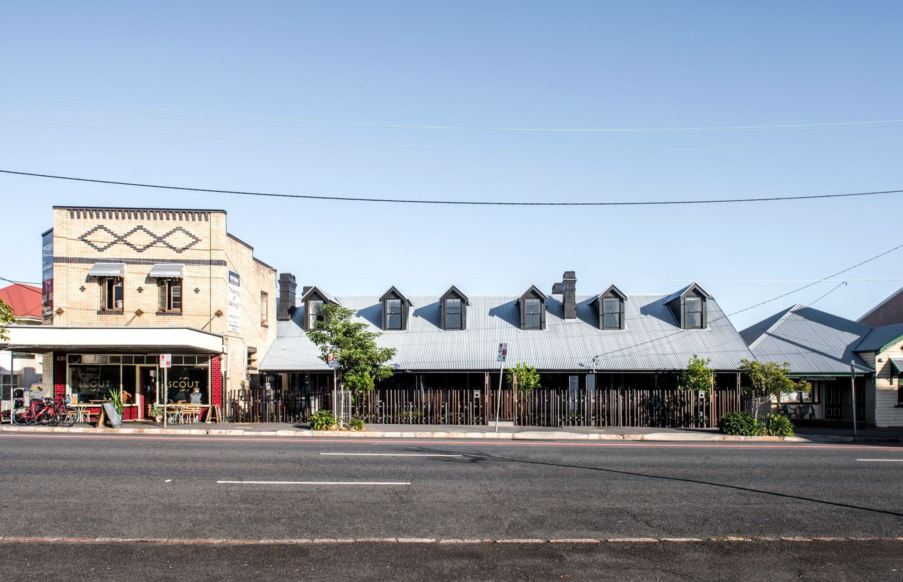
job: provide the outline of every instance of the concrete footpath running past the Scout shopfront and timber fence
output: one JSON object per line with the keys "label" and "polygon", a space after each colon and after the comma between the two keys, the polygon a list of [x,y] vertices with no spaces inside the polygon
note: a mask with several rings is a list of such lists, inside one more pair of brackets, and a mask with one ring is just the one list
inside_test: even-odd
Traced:
{"label": "concrete footpath running past the Scout shopfront and timber fence", "polygon": [[868,429],[852,436],[851,429],[811,428],[796,436],[730,436],[708,428],[658,427],[495,427],[446,425],[371,425],[367,430],[310,430],[292,423],[190,423],[162,427],[151,422],[126,421],[121,428],[0,426],[0,432],[103,435],[175,436],[293,436],[340,438],[455,438],[491,440],[614,440],[614,441],[731,441],[795,443],[903,443],[903,430]]}

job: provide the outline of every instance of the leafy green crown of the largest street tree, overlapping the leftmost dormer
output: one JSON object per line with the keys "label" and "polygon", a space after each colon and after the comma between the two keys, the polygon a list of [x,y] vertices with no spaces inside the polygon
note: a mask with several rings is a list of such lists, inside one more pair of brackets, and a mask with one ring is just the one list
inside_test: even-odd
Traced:
{"label": "leafy green crown of the largest street tree, overlapping the leftmost dormer", "polygon": [[320,359],[329,363],[330,351],[339,361],[336,374],[355,400],[376,388],[379,380],[392,377],[393,370],[386,362],[396,355],[395,348],[380,348],[376,339],[381,333],[371,332],[363,322],[353,322],[353,309],[341,305],[323,305],[325,321],[317,322],[317,329],[308,330],[307,337],[320,348]]}

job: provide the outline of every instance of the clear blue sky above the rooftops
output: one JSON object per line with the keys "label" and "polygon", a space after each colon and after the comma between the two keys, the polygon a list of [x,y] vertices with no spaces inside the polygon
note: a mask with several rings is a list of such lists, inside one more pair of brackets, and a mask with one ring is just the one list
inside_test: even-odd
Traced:
{"label": "clear blue sky above the rooftops", "polygon": [[[27,2],[4,9],[0,93],[138,108],[482,127],[715,127],[903,118],[898,2]],[[734,198],[903,189],[903,127],[526,134],[312,126],[0,101],[0,117],[303,142],[500,149],[859,146],[524,153],[303,146],[0,121],[3,169],[226,190],[498,201]],[[3,277],[40,280],[51,205],[221,208],[299,285],[334,295],[578,293],[703,280],[727,311],[903,243],[899,195],[639,208],[480,208],[156,192],[0,175]],[[23,253],[23,254],[16,254]],[[847,277],[901,277],[903,249]],[[305,272],[303,269],[307,269]],[[349,275],[375,271],[441,277]],[[472,276],[472,277],[450,277]],[[534,277],[530,280],[504,277]],[[547,278],[542,278],[547,277]],[[629,281],[626,279],[675,279]],[[742,328],[822,283],[733,318]],[[858,317],[898,282],[815,306]]]}

